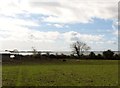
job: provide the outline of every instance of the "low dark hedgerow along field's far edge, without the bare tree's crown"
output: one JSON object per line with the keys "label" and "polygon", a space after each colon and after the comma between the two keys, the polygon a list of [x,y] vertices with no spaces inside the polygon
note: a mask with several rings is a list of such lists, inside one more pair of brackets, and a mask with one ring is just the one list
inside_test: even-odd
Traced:
{"label": "low dark hedgerow along field's far edge, without the bare tree's crown", "polygon": [[33,55],[26,55],[26,58],[33,58],[33,59],[79,59],[79,60],[119,60],[120,54],[115,54],[111,50],[103,51],[102,54],[95,54],[94,52],[90,52],[88,55],[80,54],[78,57],[76,54],[65,55],[65,54],[33,54]]}

